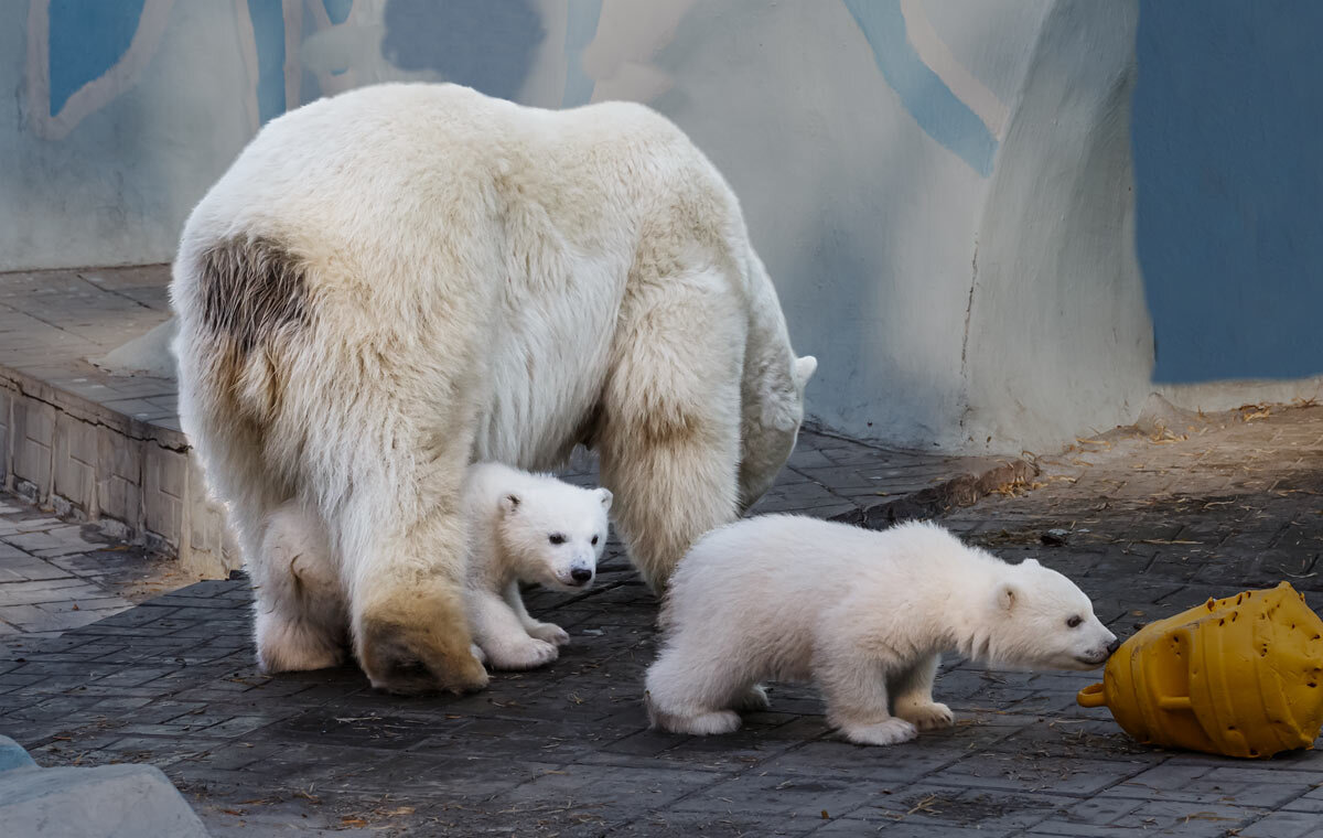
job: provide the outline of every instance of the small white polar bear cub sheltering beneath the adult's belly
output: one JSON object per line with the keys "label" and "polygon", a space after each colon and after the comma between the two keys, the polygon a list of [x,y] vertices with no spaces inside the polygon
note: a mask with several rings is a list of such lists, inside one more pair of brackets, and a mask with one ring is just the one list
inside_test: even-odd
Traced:
{"label": "small white polar bear cub sheltering beneath the adult's belly", "polygon": [[463,498],[466,605],[479,658],[499,670],[554,661],[570,635],[533,620],[519,584],[558,590],[591,586],[606,548],[611,492],[484,462],[470,467]]}

